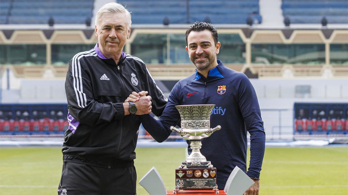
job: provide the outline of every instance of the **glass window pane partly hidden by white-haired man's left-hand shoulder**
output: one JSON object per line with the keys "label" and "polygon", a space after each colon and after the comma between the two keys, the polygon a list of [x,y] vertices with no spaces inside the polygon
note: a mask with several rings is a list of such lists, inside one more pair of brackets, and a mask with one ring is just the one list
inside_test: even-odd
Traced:
{"label": "glass window pane partly hidden by white-haired man's left-hand shoulder", "polygon": [[52,44],[51,61],[52,65],[65,66],[75,54],[93,49],[95,44]]}

